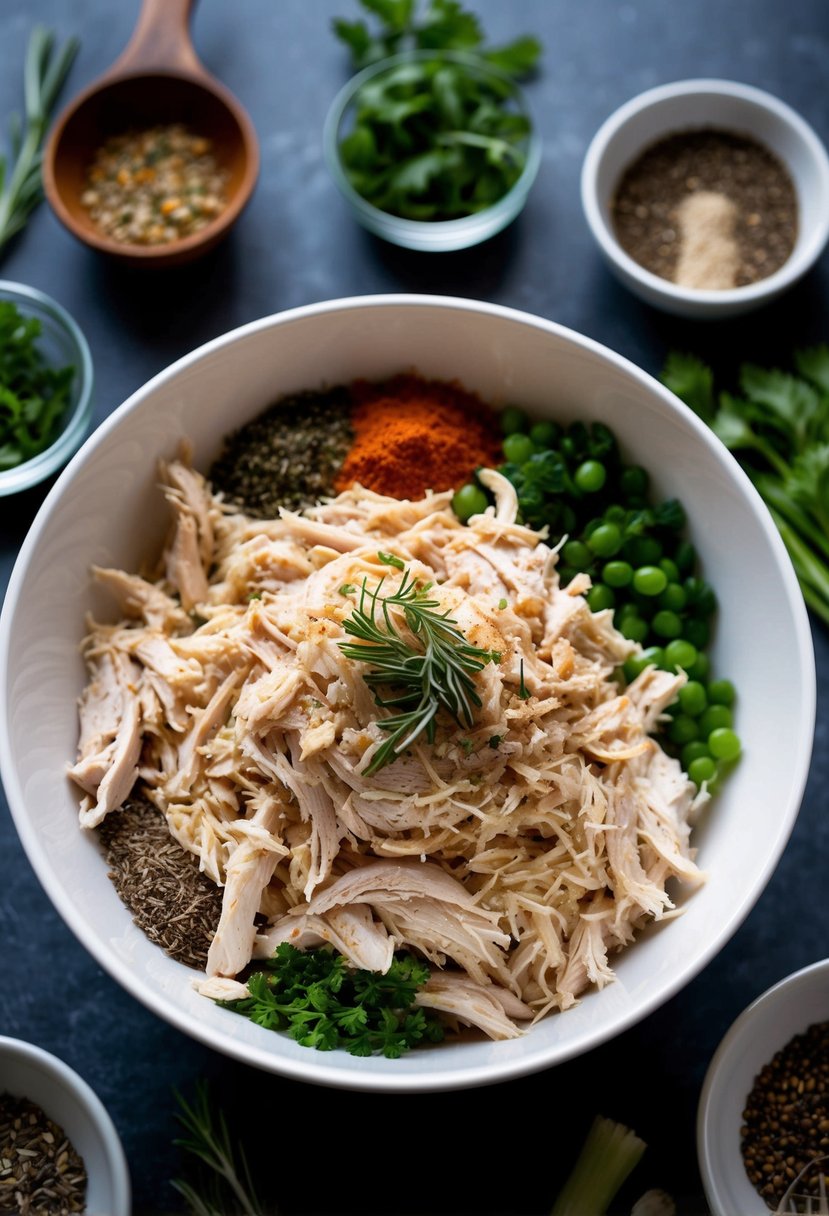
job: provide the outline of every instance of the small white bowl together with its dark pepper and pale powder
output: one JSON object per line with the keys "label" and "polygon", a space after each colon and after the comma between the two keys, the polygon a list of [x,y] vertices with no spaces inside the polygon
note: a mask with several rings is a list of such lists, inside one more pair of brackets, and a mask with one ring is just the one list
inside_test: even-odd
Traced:
{"label": "small white bowl together with its dark pepper and pale powder", "polygon": [[581,197],[614,274],[679,316],[768,303],[829,238],[823,143],[785,102],[731,80],[681,80],[621,106],[587,150]]}

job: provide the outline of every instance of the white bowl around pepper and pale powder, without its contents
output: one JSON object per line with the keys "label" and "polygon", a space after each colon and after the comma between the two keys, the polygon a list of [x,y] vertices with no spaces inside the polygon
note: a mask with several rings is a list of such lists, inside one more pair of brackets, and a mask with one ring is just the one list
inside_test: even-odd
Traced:
{"label": "white bowl around pepper and pale powder, without its contents", "polygon": [[[625,169],[664,136],[701,128],[735,131],[765,143],[786,165],[795,185],[795,248],[779,270],[746,287],[678,287],[641,266],[614,232],[610,207]],[[678,316],[735,316],[791,287],[823,252],[829,238],[829,157],[800,114],[771,94],[731,80],[679,80],[639,94],[603,123],[585,156],[581,202],[608,265],[641,299]]]}

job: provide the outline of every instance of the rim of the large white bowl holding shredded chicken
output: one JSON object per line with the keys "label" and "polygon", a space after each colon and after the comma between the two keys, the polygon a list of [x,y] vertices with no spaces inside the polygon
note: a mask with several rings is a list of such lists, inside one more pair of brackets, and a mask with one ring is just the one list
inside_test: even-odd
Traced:
{"label": "rim of the large white bowl holding shredded chicken", "polygon": [[184,1008],[176,1006],[171,1001],[168,1001],[164,993],[150,990],[143,980],[137,976],[125,962],[111,956],[103,941],[95,933],[92,933],[91,929],[88,931],[85,922],[75,912],[73,901],[64,896],[61,890],[55,890],[50,886],[50,866],[45,854],[41,854],[40,851],[39,839],[26,812],[26,798],[18,782],[13,749],[10,738],[10,706],[5,696],[6,672],[11,647],[11,623],[16,610],[19,591],[23,586],[28,567],[35,554],[40,534],[46,529],[52,511],[58,505],[66,486],[73,477],[80,472],[86,455],[91,452],[102,441],[102,439],[109,434],[111,430],[117,428],[123,418],[125,418],[134,410],[139,409],[142,401],[151,396],[158,388],[168,381],[180,376],[201,360],[220,351],[222,347],[238,342],[239,339],[263,330],[271,328],[276,325],[292,325],[305,321],[310,317],[335,314],[344,310],[371,310],[388,306],[406,306],[412,309],[438,308],[467,314],[483,314],[485,316],[530,326],[536,331],[542,331],[556,338],[570,342],[579,349],[598,355],[604,361],[609,361],[616,368],[625,372],[632,382],[647,389],[649,393],[656,393],[656,395],[662,399],[671,411],[681,411],[683,418],[687,421],[687,424],[699,433],[706,446],[718,445],[718,440],[715,439],[710,429],[686,405],[683,405],[673,393],[665,388],[665,385],[660,384],[654,377],[637,367],[636,364],[631,362],[624,355],[619,355],[616,351],[594,340],[593,338],[577,333],[576,331],[559,325],[556,321],[549,321],[546,317],[535,316],[530,313],[508,308],[502,304],[464,299],[462,297],[427,295],[416,293],[353,295],[339,299],[322,300],[314,304],[304,304],[282,313],[275,313],[269,316],[260,317],[256,321],[250,321],[247,325],[242,325],[229,331],[227,333],[220,334],[219,337],[213,338],[198,347],[196,350],[181,356],[170,366],[151,377],[150,381],[136,389],[136,392],[134,392],[122,405],[119,405],[113,413],[111,413],[109,417],[106,418],[100,427],[97,427],[95,433],[90,435],[80,451],[75,454],[69,465],[63,469],[60,478],[56,480],[55,485],[44,500],[40,511],[35,516],[29,533],[21,547],[15,568],[12,569],[9,590],[0,612],[0,771],[4,773],[4,786],[6,789],[9,807],[21,843],[23,844],[29,863],[35,871],[41,885],[46,890],[52,905],[92,958],[95,958],[96,962],[98,962],[98,964],[109,975],[112,975],[122,987],[124,987],[131,996],[140,1001],[157,1017],[163,1018],[177,1030],[181,1030],[184,1034],[196,1038],[214,1051],[221,1051],[224,1054],[238,1059],[244,1064],[258,1066],[270,1073],[277,1073],[293,1080],[309,1081],[312,1083],[332,1086],[334,1088],[365,1090],[384,1093],[438,1092],[441,1090],[453,1090],[459,1087],[472,1088],[475,1086],[491,1085],[494,1082],[507,1081],[530,1073],[541,1071],[553,1064],[563,1063],[565,1059],[570,1059],[574,1055],[590,1051],[641,1021],[644,1017],[653,1013],[654,1009],[659,1008],[681,989],[683,989],[723,947],[756,903],[780,858],[783,849],[785,848],[794,828],[808,776],[812,738],[814,733],[817,697],[814,652],[808,614],[806,612],[800,586],[786,550],[757,490],[731,454],[722,449],[722,458],[728,462],[733,462],[731,466],[733,477],[740,485],[743,492],[754,503],[758,523],[767,535],[772,551],[777,554],[784,593],[791,612],[791,620],[794,625],[793,637],[800,660],[799,666],[803,683],[802,713],[805,730],[800,736],[799,753],[790,758],[790,771],[794,775],[794,782],[791,786],[789,805],[784,809],[784,814],[780,816],[780,828],[774,841],[774,848],[766,866],[757,874],[755,888],[751,891],[750,897],[746,899],[744,903],[735,907],[732,911],[732,914],[720,923],[718,933],[706,941],[705,947],[700,950],[699,956],[694,959],[693,967],[688,970],[683,970],[682,974],[672,978],[671,981],[660,987],[659,991],[649,995],[649,997],[639,1006],[628,1010],[617,1020],[617,1023],[614,1023],[613,1028],[603,1028],[598,1031],[593,1030],[586,1034],[583,1036],[586,1040],[585,1042],[580,1041],[574,1045],[571,1049],[565,1051],[564,1053],[562,1053],[560,1045],[552,1043],[546,1051],[538,1052],[529,1060],[525,1058],[511,1059],[509,1057],[504,1057],[496,1064],[487,1063],[485,1065],[479,1065],[475,1069],[468,1069],[462,1076],[458,1076],[457,1074],[447,1075],[439,1066],[429,1071],[423,1069],[416,1076],[408,1074],[404,1075],[401,1073],[395,1075],[394,1073],[374,1074],[368,1071],[363,1074],[355,1071],[354,1074],[346,1075],[335,1066],[327,1064],[325,1058],[316,1058],[314,1060],[314,1066],[310,1068],[301,1062],[281,1058],[280,1054],[275,1052],[267,1052],[263,1048],[252,1049],[249,1045],[238,1043],[231,1037],[222,1038],[221,1045],[218,1045],[215,1041],[216,1034],[212,1026],[205,1026],[199,1023],[193,1024],[188,1020]]}

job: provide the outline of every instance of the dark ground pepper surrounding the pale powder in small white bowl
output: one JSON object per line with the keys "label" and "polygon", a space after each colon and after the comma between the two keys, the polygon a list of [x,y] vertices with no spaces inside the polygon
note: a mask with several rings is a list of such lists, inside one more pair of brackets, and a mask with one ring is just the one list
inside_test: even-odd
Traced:
{"label": "dark ground pepper surrounding the pale powder in small white bowl", "polygon": [[645,270],[673,278],[681,250],[678,208],[710,191],[735,207],[735,287],[784,264],[797,236],[797,198],[767,147],[732,131],[679,131],[653,143],[625,170],[611,203],[622,248]]}

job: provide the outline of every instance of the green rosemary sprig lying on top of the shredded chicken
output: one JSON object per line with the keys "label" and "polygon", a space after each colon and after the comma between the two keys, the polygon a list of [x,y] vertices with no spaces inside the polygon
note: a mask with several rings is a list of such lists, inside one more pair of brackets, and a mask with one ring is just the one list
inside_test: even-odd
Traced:
{"label": "green rosemary sprig lying on top of the shredded chicken", "polygon": [[[400,562],[388,557],[380,554],[387,565]],[[449,612],[440,612],[440,601],[429,598],[430,582],[421,584],[404,569],[397,590],[380,596],[384,581],[370,591],[362,580],[360,603],[343,623],[345,632],[359,641],[339,643],[346,659],[371,666],[365,680],[376,689],[377,704],[396,710],[378,724],[389,738],[374,753],[366,776],[391,764],[422,734],[434,743],[439,709],[458,726],[473,726],[474,710],[481,704],[473,676],[487,663],[501,662],[497,651],[473,646]],[[401,632],[394,609],[402,614],[410,636]]]}

